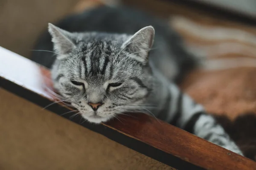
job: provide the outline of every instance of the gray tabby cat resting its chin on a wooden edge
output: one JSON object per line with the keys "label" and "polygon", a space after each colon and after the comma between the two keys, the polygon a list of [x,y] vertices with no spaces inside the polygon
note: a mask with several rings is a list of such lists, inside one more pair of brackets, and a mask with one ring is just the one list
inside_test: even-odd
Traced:
{"label": "gray tabby cat resting its chin on a wooden edge", "polygon": [[57,55],[35,52],[32,59],[52,68],[55,89],[84,119],[100,123],[127,111],[153,113],[242,155],[223,127],[172,82],[195,60],[163,22],[131,9],[100,7],[58,25],[69,31],[49,24],[52,38],[44,34],[36,46]]}

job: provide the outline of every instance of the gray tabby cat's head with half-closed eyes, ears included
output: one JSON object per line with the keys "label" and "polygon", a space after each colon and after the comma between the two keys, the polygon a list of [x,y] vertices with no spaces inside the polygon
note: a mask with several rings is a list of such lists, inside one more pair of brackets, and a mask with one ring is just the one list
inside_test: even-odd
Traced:
{"label": "gray tabby cat's head with half-closed eyes, ears included", "polygon": [[108,121],[145,102],[153,83],[148,64],[153,27],[125,35],[70,33],[49,24],[49,33],[58,53],[54,87],[89,122]]}

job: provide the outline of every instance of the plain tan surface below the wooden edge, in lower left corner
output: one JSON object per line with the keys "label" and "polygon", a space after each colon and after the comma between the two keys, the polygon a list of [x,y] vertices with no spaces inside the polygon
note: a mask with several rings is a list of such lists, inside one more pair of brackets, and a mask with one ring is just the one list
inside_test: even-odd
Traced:
{"label": "plain tan surface below the wooden edge, in lower left corner", "polygon": [[1,170],[171,169],[1,88],[0,101]]}

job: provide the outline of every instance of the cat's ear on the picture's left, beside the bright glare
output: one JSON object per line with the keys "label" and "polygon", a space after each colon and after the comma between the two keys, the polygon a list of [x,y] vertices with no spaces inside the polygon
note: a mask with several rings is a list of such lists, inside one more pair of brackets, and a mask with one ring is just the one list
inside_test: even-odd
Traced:
{"label": "cat's ear on the picture's left, beside the bright glare", "polygon": [[59,54],[68,54],[76,45],[72,41],[72,33],[65,31],[53,24],[48,24],[48,31],[52,36],[54,50]]}

